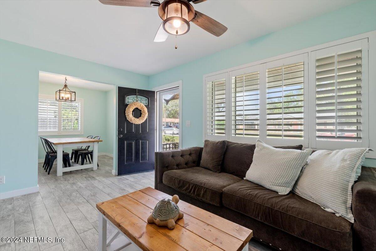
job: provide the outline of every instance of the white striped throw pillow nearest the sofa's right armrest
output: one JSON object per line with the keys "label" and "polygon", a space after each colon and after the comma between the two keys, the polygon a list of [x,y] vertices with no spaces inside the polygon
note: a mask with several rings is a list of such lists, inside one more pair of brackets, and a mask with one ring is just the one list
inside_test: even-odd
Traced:
{"label": "white striped throw pillow nearest the sofa's right armrest", "polygon": [[352,186],[367,148],[319,150],[303,167],[293,192],[354,223]]}

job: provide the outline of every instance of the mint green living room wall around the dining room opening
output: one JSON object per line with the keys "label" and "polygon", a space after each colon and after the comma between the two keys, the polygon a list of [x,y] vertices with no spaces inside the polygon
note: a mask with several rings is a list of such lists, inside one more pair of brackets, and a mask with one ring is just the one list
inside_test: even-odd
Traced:
{"label": "mint green living room wall around the dining room opening", "polygon": [[39,71],[149,87],[147,76],[0,39],[0,175],[6,181],[0,193],[37,186]]}

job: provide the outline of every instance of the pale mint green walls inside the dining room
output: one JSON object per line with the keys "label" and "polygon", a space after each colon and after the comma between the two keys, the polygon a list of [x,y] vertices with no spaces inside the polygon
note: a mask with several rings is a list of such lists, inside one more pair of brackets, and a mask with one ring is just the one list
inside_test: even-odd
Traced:
{"label": "pale mint green walls inside the dining room", "polygon": [[[50,83],[39,83],[39,94],[54,95],[55,91],[59,89],[58,85]],[[76,98],[82,98],[82,111],[83,111],[83,134],[82,135],[64,135],[64,136],[43,136],[44,138],[63,138],[63,137],[86,137],[88,135],[101,136],[103,142],[98,144],[99,153],[112,154],[113,147],[112,132],[113,127],[107,128],[108,114],[112,114],[114,107],[108,107],[107,92],[110,91],[97,91],[91,89],[83,89],[72,87],[76,92]],[[115,88],[114,88],[115,89]],[[112,101],[112,99],[111,99]],[[111,120],[114,120],[111,117]],[[45,151],[41,142],[38,142],[38,159],[44,159]],[[77,147],[74,147],[77,148]],[[71,153],[72,148],[64,148],[64,151]]]}

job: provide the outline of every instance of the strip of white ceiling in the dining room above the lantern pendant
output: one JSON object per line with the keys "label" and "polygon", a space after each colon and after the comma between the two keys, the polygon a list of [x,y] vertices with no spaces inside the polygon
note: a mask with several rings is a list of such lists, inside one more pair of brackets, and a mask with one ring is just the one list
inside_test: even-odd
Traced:
{"label": "strip of white ceiling in the dining room above the lantern pendant", "polygon": [[71,90],[73,90],[71,87],[92,89],[97,91],[109,91],[114,88],[113,85],[77,79],[71,76],[65,76],[55,73],[46,73],[44,71],[39,72],[39,82],[59,85],[61,88],[64,86],[65,77],[67,77],[68,88],[70,88]]}

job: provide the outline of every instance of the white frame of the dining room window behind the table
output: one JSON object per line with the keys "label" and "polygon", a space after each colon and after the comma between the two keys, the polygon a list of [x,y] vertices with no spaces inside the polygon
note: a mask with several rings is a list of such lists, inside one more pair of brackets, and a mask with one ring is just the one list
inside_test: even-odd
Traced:
{"label": "white frame of the dining room window behind the table", "polygon": [[[55,96],[53,95],[46,95],[46,94],[39,94],[39,99],[46,99],[46,100],[55,100]],[[80,130],[73,130],[73,131],[62,131],[61,130],[61,102],[58,101],[58,130],[56,131],[39,131],[38,136],[58,136],[58,135],[83,135],[83,99],[76,98],[75,102],[80,103]],[[39,109],[38,109],[39,111]]]}

